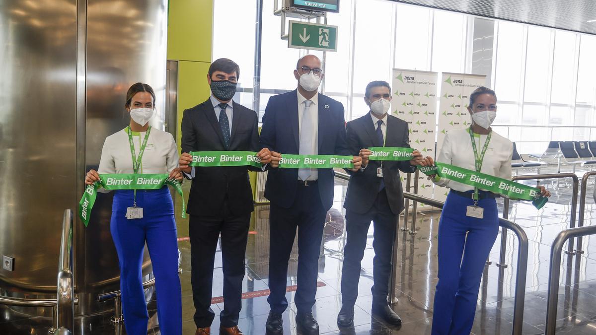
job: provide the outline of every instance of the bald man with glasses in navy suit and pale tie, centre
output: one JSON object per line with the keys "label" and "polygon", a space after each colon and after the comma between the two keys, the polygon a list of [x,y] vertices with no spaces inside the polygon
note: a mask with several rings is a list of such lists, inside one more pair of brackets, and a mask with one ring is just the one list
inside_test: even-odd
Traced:
{"label": "bald man with glasses in navy suit and pale tie, centre", "polygon": [[[271,150],[271,169],[265,184],[269,212],[269,294],[271,312],[267,334],[282,334],[281,314],[287,268],[298,228],[298,287],[296,324],[303,334],[318,334],[312,316],[315,303],[318,259],[327,210],[333,202],[333,169],[277,169],[279,154],[350,155],[346,146],[344,110],[341,103],[317,89],[324,73],[314,55],[300,58],[294,70],[296,91],[269,98],[260,133],[261,145]],[[361,157],[353,157],[360,168]]]}

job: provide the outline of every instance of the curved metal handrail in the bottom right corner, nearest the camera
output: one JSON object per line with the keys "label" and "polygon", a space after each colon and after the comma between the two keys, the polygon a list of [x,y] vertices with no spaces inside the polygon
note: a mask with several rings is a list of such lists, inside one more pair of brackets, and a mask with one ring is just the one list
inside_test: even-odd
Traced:
{"label": "curved metal handrail in the bottom right corner, nearest the camera", "polygon": [[594,234],[596,234],[596,226],[569,228],[559,232],[555,240],[552,241],[551,263],[548,274],[547,323],[545,325],[545,335],[554,335],[555,329],[557,328],[558,286],[559,275],[561,273],[561,250],[563,250],[563,244],[570,238]]}

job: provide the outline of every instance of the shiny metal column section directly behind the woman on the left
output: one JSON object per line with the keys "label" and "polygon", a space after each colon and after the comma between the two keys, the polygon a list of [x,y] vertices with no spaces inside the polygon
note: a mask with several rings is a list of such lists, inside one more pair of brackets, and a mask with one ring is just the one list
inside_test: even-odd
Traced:
{"label": "shiny metal column section directly behind the woman on the left", "polygon": [[[163,130],[166,89],[167,3],[165,0],[88,0],[86,39],[85,170],[97,169],[104,139],[128,125],[126,91],[135,82],[148,83],[156,92],[157,115],[152,125]],[[83,172],[84,173],[84,172]],[[120,271],[110,234],[112,194],[97,197],[91,222],[77,237],[84,248],[84,281],[94,286]],[[145,250],[144,274],[151,271]]]}

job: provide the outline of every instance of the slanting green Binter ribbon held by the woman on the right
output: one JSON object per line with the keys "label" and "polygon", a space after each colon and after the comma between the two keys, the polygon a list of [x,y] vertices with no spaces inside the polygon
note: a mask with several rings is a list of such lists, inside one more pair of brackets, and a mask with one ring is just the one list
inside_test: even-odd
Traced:
{"label": "slanting green Binter ribbon held by the woman on the right", "polygon": [[542,197],[538,187],[519,184],[504,178],[445,163],[434,162],[434,165],[436,165],[436,167],[418,166],[418,169],[425,175],[437,175],[441,178],[447,178],[452,181],[461,182],[461,184],[482,188],[482,190],[491,191],[492,193],[498,193],[510,198],[532,201],[532,204],[537,209],[541,209],[548,201],[547,197]]}

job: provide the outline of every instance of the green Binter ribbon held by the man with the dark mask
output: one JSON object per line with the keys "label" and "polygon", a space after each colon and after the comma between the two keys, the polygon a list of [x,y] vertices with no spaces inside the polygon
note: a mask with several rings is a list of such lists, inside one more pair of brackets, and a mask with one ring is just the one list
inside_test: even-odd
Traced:
{"label": "green Binter ribbon held by the man with the dark mask", "polygon": [[262,166],[254,151],[191,151],[190,166]]}

